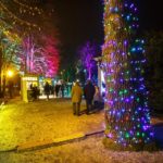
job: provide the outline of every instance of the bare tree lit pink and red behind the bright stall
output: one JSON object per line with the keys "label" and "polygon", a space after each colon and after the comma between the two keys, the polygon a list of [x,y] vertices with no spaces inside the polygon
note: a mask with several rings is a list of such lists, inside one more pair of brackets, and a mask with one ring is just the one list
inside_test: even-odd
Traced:
{"label": "bare tree lit pink and red behind the bright stall", "polygon": [[40,36],[39,42],[32,36],[23,41],[20,53],[22,67],[26,74],[53,77],[59,68],[58,41],[50,36]]}

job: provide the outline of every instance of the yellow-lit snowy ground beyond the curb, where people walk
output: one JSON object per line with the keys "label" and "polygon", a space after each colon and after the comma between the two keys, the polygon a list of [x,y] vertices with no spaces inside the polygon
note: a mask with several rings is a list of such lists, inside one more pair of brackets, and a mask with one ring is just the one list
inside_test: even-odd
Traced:
{"label": "yellow-lit snowy ground beyond the curb, where people walk", "polygon": [[[85,110],[83,102],[82,111]],[[74,116],[70,100],[12,101],[0,111],[0,151],[102,129],[103,112]]]}

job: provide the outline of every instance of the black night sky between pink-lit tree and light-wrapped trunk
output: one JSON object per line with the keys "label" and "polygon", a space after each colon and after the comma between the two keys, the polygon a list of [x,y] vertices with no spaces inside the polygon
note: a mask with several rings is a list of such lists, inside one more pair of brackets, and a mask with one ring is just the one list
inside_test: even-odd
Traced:
{"label": "black night sky between pink-lit tree and light-wrapped trunk", "polygon": [[87,40],[98,45],[103,40],[100,0],[55,0],[58,28],[62,43],[61,67],[74,62],[77,48]]}

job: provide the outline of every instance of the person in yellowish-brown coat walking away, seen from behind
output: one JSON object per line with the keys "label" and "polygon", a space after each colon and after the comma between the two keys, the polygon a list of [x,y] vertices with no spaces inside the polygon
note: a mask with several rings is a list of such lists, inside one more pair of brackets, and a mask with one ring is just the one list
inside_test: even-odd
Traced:
{"label": "person in yellowish-brown coat walking away, seen from behind", "polygon": [[72,102],[73,102],[73,113],[79,116],[80,102],[82,102],[83,89],[79,83],[76,82],[72,88]]}

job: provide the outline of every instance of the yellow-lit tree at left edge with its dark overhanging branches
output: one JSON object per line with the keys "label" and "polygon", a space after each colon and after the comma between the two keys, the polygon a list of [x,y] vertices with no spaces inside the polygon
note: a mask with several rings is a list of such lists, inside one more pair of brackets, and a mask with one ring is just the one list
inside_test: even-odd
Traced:
{"label": "yellow-lit tree at left edge with its dark overhanging branches", "polygon": [[40,30],[38,25],[30,22],[30,20],[34,20],[32,17],[35,17],[36,13],[41,17],[41,11],[37,7],[26,5],[20,3],[17,0],[0,1],[0,91],[1,86],[3,86],[3,93],[7,70],[11,65],[20,65],[17,53],[20,51],[21,39],[16,34],[22,32],[20,35],[22,37],[24,33],[26,34],[34,28]]}

